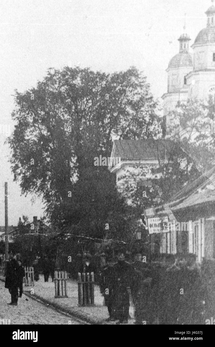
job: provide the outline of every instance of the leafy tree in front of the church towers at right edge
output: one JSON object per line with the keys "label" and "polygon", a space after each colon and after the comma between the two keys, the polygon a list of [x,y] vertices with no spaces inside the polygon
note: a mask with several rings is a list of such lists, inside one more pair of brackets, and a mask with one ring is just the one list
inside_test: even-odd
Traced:
{"label": "leafy tree in front of the church towers at right edge", "polygon": [[183,149],[190,154],[200,171],[214,166],[215,154],[215,99],[207,102],[189,99],[178,102],[169,113],[171,138],[178,139]]}

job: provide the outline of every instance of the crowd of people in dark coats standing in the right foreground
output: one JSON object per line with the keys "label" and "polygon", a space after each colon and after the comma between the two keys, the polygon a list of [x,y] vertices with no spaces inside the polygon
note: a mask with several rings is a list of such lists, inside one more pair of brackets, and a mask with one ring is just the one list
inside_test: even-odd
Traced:
{"label": "crowd of people in dark coats standing in the right foreground", "polygon": [[100,272],[100,290],[110,321],[128,323],[129,304],[135,307],[135,324],[203,324],[206,286],[194,254],[167,254],[149,263],[140,252],[133,262],[117,254]]}

